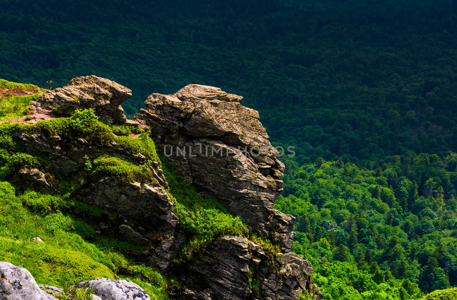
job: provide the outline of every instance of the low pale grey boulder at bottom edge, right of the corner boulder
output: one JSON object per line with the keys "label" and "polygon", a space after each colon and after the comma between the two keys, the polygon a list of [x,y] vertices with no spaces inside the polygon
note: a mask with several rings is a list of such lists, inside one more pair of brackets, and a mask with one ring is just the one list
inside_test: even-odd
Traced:
{"label": "low pale grey boulder at bottom edge, right of the corner boulder", "polygon": [[148,293],[137,284],[127,280],[96,278],[75,284],[77,288],[88,286],[102,300],[150,300]]}

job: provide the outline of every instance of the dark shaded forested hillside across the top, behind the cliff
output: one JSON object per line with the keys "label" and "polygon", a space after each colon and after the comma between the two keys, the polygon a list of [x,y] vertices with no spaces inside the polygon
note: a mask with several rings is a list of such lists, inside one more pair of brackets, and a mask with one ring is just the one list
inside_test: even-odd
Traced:
{"label": "dark shaded forested hillside across the top, behind the cliff", "polygon": [[97,74],[133,90],[130,115],[152,92],[221,86],[303,162],[444,155],[457,150],[456,7],[11,0],[0,4],[0,77],[47,87]]}

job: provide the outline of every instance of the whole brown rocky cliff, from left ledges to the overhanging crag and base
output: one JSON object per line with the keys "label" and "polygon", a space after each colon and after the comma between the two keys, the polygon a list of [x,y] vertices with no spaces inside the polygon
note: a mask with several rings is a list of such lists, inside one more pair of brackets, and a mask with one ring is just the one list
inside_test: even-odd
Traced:
{"label": "whole brown rocky cliff, from left ledges to the overhanging crag and base", "polygon": [[[148,251],[137,259],[181,280],[181,288],[171,293],[175,299],[298,299],[302,293],[320,299],[309,263],[289,252],[295,219],[273,208],[284,186],[284,165],[258,112],[242,106],[241,96],[190,85],[173,95],[152,94],[134,120],[126,120],[120,104],[130,93],[110,80],[85,76],[40,96],[32,102],[32,115],[53,118],[93,108],[108,121],[147,133],[119,137],[100,124],[87,129],[95,125],[85,124],[78,114],[59,125],[65,130],[40,123],[12,126],[18,147],[45,156],[47,163],[18,167],[10,181],[58,193],[62,178],[85,174],[72,197],[105,211],[90,224],[101,234],[146,245]],[[186,230],[175,214],[150,138],[163,160],[199,193],[239,216],[249,234],[217,236],[191,259],[176,262]],[[141,166],[142,175],[126,180],[100,163],[105,171],[88,176],[87,162],[106,155]]]}

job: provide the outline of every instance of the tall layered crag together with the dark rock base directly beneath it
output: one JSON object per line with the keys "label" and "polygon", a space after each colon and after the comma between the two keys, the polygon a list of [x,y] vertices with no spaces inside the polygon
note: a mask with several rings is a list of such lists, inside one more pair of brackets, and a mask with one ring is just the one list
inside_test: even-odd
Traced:
{"label": "tall layered crag together with the dark rock base directly beneath it", "polygon": [[284,165],[258,112],[242,106],[241,99],[219,88],[190,85],[173,95],[150,95],[135,116],[153,129],[165,159],[187,182],[281,249],[271,252],[241,236],[222,236],[182,269],[179,278],[193,288],[177,298],[292,300],[307,291],[320,299],[313,269],[289,252],[295,218],[273,207],[284,187]]}

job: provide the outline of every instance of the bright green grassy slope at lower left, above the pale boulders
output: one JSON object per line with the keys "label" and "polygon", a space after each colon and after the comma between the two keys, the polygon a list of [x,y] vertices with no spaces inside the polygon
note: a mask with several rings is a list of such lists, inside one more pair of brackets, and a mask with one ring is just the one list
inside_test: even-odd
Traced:
{"label": "bright green grassy slope at lower left, above the pale boulders", "polygon": [[[65,206],[64,199],[35,192],[15,193],[10,183],[0,182],[0,260],[27,268],[38,284],[62,287],[97,277],[128,279],[145,289],[151,299],[169,299],[162,275],[131,262],[109,246],[123,242],[95,236],[84,222],[59,211],[54,213]],[[30,241],[36,236],[44,243]]]}

